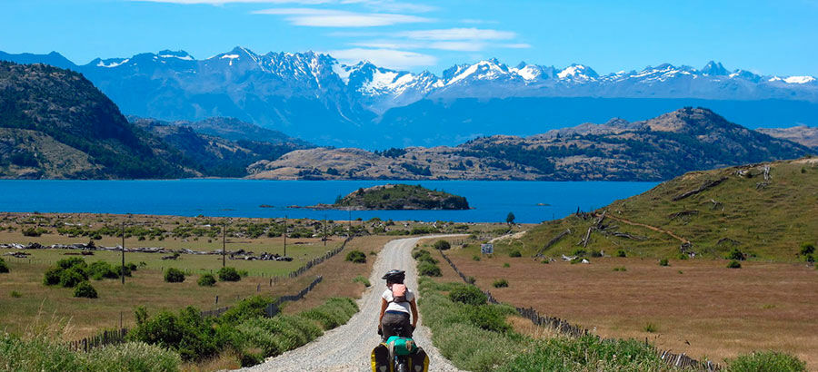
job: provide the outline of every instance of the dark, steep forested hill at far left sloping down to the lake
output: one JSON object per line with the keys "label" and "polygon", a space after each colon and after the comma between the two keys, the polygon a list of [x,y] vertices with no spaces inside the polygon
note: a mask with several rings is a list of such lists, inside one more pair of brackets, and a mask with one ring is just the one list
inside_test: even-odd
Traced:
{"label": "dark, steep forested hill at far left sloping down to the lake", "polygon": [[179,152],[125,119],[80,73],[0,62],[0,177],[198,175]]}

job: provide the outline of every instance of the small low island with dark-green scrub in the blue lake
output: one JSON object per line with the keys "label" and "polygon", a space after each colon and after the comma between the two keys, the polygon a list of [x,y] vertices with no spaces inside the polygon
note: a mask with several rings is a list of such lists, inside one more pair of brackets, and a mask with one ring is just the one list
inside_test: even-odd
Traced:
{"label": "small low island with dark-green scrub in the blue lake", "polygon": [[386,184],[358,189],[335,200],[305,208],[343,210],[468,210],[462,196],[429,190],[420,185]]}

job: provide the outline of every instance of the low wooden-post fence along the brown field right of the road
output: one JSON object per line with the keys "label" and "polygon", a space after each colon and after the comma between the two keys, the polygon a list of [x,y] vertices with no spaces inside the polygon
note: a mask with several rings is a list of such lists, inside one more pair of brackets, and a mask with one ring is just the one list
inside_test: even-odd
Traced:
{"label": "low wooden-post fence along the brown field right of the road", "polygon": [[[449,266],[451,266],[452,269],[454,269],[454,272],[457,273],[457,275],[459,275],[460,278],[463,279],[464,282],[466,282],[467,284],[474,284],[468,277],[465,276],[463,271],[461,271],[460,269],[457,268],[457,265],[454,264],[452,259],[449,259],[449,257],[445,255],[443,250],[438,250],[438,251],[440,252],[440,255],[445,259],[445,261],[449,263]],[[488,299],[489,303],[493,303],[493,304],[499,304],[500,303],[500,301],[498,301],[497,299],[494,299],[494,296],[492,296],[492,293],[490,291],[484,290],[483,293],[485,294],[485,296]],[[593,333],[591,333],[591,331],[588,330],[587,328],[582,328],[582,327],[579,327],[579,326],[575,326],[575,325],[569,323],[567,320],[564,320],[564,319],[561,319],[561,318],[543,316],[540,313],[538,313],[536,310],[534,310],[534,308],[515,308],[515,309],[517,310],[517,314],[519,314],[523,318],[527,318],[527,319],[531,320],[531,322],[534,323],[535,325],[540,326],[540,327],[552,328],[555,331],[557,331],[560,334],[563,334],[565,336],[574,337],[574,338],[581,338],[581,337],[584,337],[584,336],[593,336],[593,337],[595,337],[597,339],[600,339],[602,341],[610,339],[610,338],[600,338],[598,335],[594,335]],[[656,353],[656,355],[660,359],[662,359],[665,363],[667,363],[668,365],[673,366],[673,367],[688,367],[688,368],[692,367],[692,368],[697,368],[697,369],[700,369],[700,370],[703,370],[703,371],[708,371],[708,372],[714,372],[714,371],[722,370],[722,367],[720,365],[715,364],[710,360],[699,361],[699,360],[693,359],[692,357],[689,357],[689,356],[685,355],[684,353],[674,354],[674,353],[671,352],[671,350],[660,350],[658,348],[655,348],[655,347],[653,347],[652,345],[650,345],[648,343],[647,338],[644,339],[644,345],[649,347],[649,348],[653,348],[653,351]]]}

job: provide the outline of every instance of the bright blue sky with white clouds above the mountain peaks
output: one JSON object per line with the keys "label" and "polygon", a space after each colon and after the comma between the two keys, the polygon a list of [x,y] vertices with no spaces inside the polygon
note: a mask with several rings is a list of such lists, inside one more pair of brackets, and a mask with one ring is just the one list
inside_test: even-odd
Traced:
{"label": "bright blue sky with white clouds above the mountain peaks", "polygon": [[204,59],[242,45],[433,73],[496,57],[598,73],[715,60],[818,75],[816,20],[818,0],[2,0],[0,50],[85,64],[163,49]]}

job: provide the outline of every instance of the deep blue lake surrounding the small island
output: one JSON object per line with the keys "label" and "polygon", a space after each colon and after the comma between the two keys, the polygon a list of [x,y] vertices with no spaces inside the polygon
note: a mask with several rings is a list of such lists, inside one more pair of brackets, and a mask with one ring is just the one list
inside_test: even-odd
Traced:
{"label": "deep blue lake surrounding the small island", "polygon": [[[472,210],[353,210],[352,218],[504,221],[562,218],[647,191],[658,182],[392,181],[464,196]],[[0,211],[136,213],[179,216],[347,220],[347,210],[293,209],[333,203],[338,195],[390,181],[0,181]],[[262,208],[261,205],[272,208]]]}

